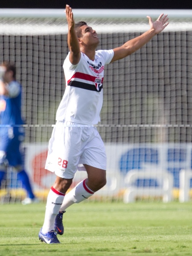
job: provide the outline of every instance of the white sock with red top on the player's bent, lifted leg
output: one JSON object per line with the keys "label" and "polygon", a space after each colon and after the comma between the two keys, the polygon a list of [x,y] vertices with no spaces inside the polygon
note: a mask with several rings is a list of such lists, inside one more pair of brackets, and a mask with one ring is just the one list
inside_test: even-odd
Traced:
{"label": "white sock with red top on the player's bent, lifted leg", "polygon": [[85,180],[82,180],[77,184],[76,187],[74,187],[69,193],[65,195],[63,204],[61,205],[60,212],[67,209],[72,204],[78,204],[84,201],[93,194],[94,192],[87,187]]}

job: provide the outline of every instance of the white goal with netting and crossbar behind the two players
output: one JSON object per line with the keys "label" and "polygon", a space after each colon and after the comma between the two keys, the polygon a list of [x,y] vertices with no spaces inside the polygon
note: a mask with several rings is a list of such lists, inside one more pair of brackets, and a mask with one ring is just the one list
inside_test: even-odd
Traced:
{"label": "white goal with netting and crossbar behind the two players", "polygon": [[[146,31],[147,15],[157,19],[160,13],[74,10],[74,17],[96,29],[98,49],[113,49]],[[170,23],[162,33],[134,54],[106,66],[101,122],[96,126],[106,146],[108,181],[89,200],[190,199],[192,15],[184,10],[167,14]],[[63,10],[0,10],[0,61],[13,61],[17,67],[26,121],[25,166],[42,200],[55,180],[44,164],[65,89],[67,30]],[[73,186],[84,177],[85,172],[77,172]],[[9,169],[1,184],[1,203],[25,196]]]}

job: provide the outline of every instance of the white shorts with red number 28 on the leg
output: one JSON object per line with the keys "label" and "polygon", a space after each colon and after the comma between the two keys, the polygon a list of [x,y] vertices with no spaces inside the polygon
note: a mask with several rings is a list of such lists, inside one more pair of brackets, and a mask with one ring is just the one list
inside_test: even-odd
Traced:
{"label": "white shorts with red number 28 on the leg", "polygon": [[106,170],[105,146],[99,132],[93,125],[57,121],[49,140],[45,169],[71,179],[77,169],[82,170],[82,164]]}

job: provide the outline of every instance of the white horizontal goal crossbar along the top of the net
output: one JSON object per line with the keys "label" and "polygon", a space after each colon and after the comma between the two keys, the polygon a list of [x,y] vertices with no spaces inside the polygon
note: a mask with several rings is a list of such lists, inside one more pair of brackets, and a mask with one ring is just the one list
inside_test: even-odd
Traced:
{"label": "white horizontal goal crossbar along the top of the net", "polygon": [[[73,9],[74,17],[87,18],[145,18],[157,17],[160,13],[170,18],[192,18],[187,9]],[[63,18],[64,9],[0,9],[0,17],[55,17]]]}

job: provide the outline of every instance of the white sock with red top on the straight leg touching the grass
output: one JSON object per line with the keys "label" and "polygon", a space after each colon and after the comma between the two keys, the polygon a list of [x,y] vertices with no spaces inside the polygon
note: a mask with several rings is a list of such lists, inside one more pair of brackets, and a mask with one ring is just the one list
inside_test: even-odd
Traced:
{"label": "white sock with red top on the straight leg touching the grass", "polygon": [[63,203],[65,194],[51,187],[47,196],[47,205],[45,211],[45,219],[42,227],[42,232],[47,233],[54,230],[55,217]]}

